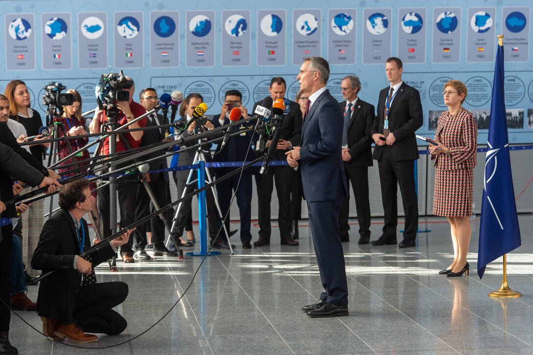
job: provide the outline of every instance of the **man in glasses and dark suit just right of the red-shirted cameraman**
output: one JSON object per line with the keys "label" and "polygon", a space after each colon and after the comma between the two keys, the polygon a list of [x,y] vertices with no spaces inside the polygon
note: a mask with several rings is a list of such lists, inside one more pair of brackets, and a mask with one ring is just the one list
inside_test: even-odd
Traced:
{"label": "man in glasses and dark suit just right of the red-shirted cameraman", "polygon": [[[157,97],[156,90],[153,88],[146,88],[141,90],[141,92],[139,93],[139,97],[141,105],[146,109],[146,112],[151,111],[158,104],[159,98]],[[165,124],[163,120],[164,117],[162,115],[155,113],[151,114],[150,116],[148,116],[146,127],[158,127],[159,125]],[[150,129],[144,131],[140,146],[148,147],[151,145],[161,144],[164,139],[164,129]],[[158,152],[142,156],[141,160],[153,159],[155,157],[163,156],[166,153],[167,152],[165,151],[165,149],[161,149]],[[149,164],[150,171],[168,168],[166,158],[151,161]],[[154,197],[159,207],[164,207],[167,204],[171,203],[170,187],[168,184],[168,172],[145,173],[144,178],[147,180],[148,186],[150,186],[150,189],[154,194]],[[137,185],[137,204],[135,207],[135,219],[139,220],[155,211],[156,208],[150,200],[150,196],[148,195],[146,187],[144,187],[144,184],[142,182],[139,182]],[[164,218],[166,219],[169,226],[172,225],[173,217],[173,210],[168,210],[164,214]],[[154,246],[154,256],[177,256],[177,253],[175,251],[169,251],[165,247],[166,233],[165,223],[163,222],[163,220],[161,220],[161,218],[157,216],[155,218],[152,218],[149,223],[150,230],[152,232],[152,245]],[[135,240],[137,241],[137,243],[134,246],[135,254],[133,254],[133,257],[140,260],[150,259],[150,256],[146,253],[146,251],[144,251],[144,248],[147,245],[146,230],[147,226],[141,225],[137,227],[134,232]]]}

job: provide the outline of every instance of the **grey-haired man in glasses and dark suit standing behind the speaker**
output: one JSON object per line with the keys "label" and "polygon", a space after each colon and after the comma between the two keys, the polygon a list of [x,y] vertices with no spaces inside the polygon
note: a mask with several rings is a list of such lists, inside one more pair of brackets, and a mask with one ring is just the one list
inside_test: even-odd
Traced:
{"label": "grey-haired man in glasses and dark suit standing behind the speaker", "polygon": [[[356,200],[357,220],[359,222],[359,244],[370,242],[370,201],[368,198],[368,167],[372,167],[372,140],[370,135],[376,110],[374,105],[358,98],[361,81],[357,76],[349,75],[342,79],[341,91],[345,101],[339,104],[344,113],[342,131],[342,160],[346,185],[351,181],[353,196]],[[338,216],[341,241],[348,242],[348,217],[350,196],[342,201]]]}

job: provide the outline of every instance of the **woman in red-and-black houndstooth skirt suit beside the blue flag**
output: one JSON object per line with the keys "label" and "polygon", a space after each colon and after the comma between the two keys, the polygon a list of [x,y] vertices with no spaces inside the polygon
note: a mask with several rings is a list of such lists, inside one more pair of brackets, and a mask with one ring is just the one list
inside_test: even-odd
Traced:
{"label": "woman in red-and-black houndstooth skirt suit beside the blue flag", "polygon": [[445,216],[451,227],[454,261],[440,274],[448,277],[468,274],[466,255],[470,246],[469,217],[472,214],[473,171],[477,163],[478,127],[472,114],[463,104],[467,89],[458,80],[444,86],[444,103],[448,111],[439,117],[435,140],[430,145],[431,159],[435,160],[435,190],[433,214]]}

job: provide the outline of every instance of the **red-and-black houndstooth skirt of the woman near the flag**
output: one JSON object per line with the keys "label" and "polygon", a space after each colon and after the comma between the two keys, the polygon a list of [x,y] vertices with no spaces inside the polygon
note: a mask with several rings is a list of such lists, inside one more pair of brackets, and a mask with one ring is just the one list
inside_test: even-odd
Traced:
{"label": "red-and-black houndstooth skirt of the woman near the flag", "polygon": [[472,169],[435,169],[433,214],[466,217],[472,214],[474,172]]}

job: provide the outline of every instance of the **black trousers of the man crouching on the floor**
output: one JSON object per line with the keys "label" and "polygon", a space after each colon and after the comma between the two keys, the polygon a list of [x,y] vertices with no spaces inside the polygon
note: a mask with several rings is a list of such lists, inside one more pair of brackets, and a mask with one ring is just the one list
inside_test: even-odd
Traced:
{"label": "black trousers of the man crouching on the floor", "polygon": [[118,335],[127,327],[126,320],[113,307],[128,296],[125,282],[102,282],[83,286],[72,317],[85,333]]}

